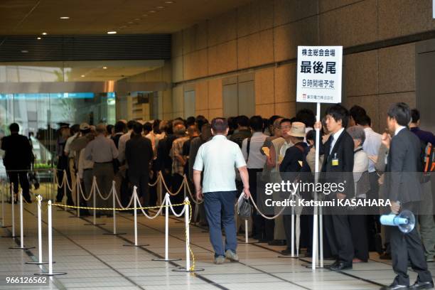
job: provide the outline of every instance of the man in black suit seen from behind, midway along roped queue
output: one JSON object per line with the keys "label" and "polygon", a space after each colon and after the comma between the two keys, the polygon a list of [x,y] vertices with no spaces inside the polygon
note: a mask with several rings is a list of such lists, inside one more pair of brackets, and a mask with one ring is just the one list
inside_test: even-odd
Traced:
{"label": "man in black suit seen from behind, midway along roped queue", "polygon": [[142,205],[149,205],[148,181],[149,166],[154,157],[153,146],[148,138],[142,136],[142,125],[136,122],[133,125],[131,139],[125,144],[125,159],[128,169],[129,182],[136,186]]}

